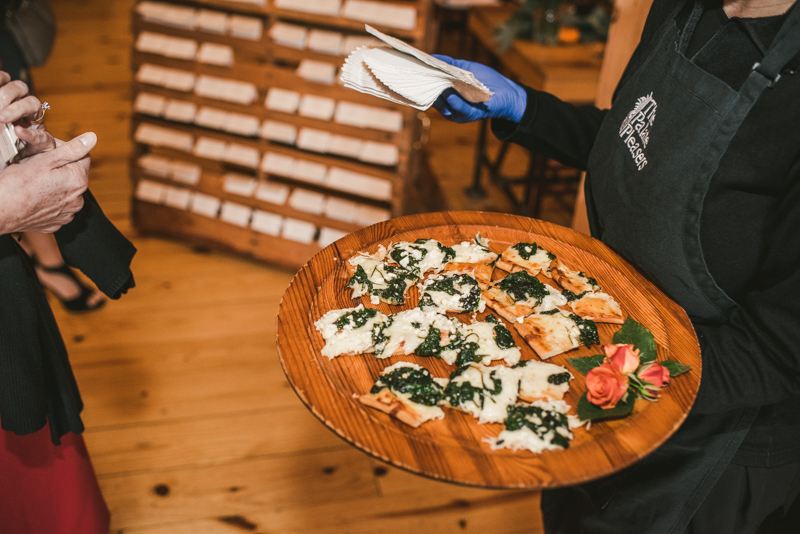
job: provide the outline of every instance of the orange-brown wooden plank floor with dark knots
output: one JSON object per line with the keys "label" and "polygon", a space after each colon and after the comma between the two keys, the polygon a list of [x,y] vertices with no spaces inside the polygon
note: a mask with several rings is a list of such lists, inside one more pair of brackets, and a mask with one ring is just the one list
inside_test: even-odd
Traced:
{"label": "orange-brown wooden plank floor with dark knots", "polygon": [[[80,316],[54,302],[112,532],[541,532],[536,493],[394,469],[306,410],[275,349],[292,273],[137,235],[128,217],[133,2],[51,3],[59,37],[34,72],[52,104],[48,127],[62,138],[98,134],[91,188],[139,249],[137,287],[120,301]],[[432,166],[448,169],[447,187],[460,190],[446,160],[471,145],[474,129],[437,144],[438,124],[431,146],[444,159]]]}

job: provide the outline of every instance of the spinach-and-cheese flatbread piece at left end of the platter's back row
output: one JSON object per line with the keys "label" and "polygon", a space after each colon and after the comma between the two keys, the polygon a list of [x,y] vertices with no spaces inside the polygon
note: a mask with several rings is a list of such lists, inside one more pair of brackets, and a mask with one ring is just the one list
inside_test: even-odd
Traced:
{"label": "spinach-and-cheese flatbread piece at left end of the platter's back row", "polygon": [[381,246],[375,255],[358,253],[347,260],[351,277],[347,287],[353,288],[352,298],[369,295],[372,304],[403,304],[406,291],[419,279],[414,271],[385,262],[386,249]]}

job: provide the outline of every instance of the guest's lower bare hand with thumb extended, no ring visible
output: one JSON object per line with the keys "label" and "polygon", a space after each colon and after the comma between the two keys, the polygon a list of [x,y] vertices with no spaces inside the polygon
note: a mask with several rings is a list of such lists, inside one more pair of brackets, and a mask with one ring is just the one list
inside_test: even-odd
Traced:
{"label": "guest's lower bare hand with thumb extended, no ring visible", "polygon": [[89,132],[58,144],[0,172],[0,235],[55,232],[83,207],[97,136]]}

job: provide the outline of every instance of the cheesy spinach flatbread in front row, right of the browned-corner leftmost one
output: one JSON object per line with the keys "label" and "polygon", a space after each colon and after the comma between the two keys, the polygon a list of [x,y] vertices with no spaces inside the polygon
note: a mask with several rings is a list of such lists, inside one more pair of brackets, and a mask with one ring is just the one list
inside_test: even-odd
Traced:
{"label": "cheesy spinach flatbread in front row, right of the browned-corner leftmost one", "polygon": [[483,423],[500,423],[517,399],[519,378],[510,367],[470,363],[450,375],[444,402]]}

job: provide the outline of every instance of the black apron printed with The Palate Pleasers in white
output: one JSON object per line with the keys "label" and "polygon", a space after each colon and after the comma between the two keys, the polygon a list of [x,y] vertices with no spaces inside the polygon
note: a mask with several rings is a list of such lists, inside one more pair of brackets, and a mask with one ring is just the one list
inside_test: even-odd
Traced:
{"label": "black apron printed with The Palate Pleasers in white", "polygon": [[[592,235],[645,272],[695,323],[722,323],[737,304],[715,283],[700,243],[703,201],[719,160],[763,91],[800,51],[800,9],[736,91],[684,56],[702,15],[675,16],[617,91],[588,163]],[[636,466],[582,488],[588,532],[681,533],[730,463],[758,413],[690,414]],[[543,496],[543,509],[547,507]],[[546,510],[545,510],[546,511]]]}

